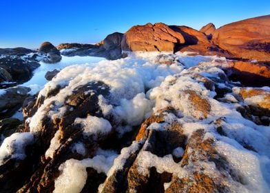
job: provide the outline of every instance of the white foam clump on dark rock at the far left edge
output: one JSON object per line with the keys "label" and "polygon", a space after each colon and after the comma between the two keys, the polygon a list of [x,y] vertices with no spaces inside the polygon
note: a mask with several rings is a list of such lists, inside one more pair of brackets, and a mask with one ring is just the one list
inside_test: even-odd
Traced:
{"label": "white foam clump on dark rock at the far left edge", "polygon": [[34,135],[29,132],[14,133],[4,139],[0,147],[0,165],[6,158],[25,159],[25,146],[34,143]]}

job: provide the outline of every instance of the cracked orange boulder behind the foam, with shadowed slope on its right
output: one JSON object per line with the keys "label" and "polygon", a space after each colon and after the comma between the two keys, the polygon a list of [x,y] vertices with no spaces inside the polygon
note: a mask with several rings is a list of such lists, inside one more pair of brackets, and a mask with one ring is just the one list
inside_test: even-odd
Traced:
{"label": "cracked orange boulder behind the foam, with shadowed slope on its right", "polygon": [[147,23],[129,29],[122,41],[122,50],[127,51],[169,51],[195,52],[203,55],[231,57],[209,42],[206,34],[187,26],[167,26],[164,23]]}

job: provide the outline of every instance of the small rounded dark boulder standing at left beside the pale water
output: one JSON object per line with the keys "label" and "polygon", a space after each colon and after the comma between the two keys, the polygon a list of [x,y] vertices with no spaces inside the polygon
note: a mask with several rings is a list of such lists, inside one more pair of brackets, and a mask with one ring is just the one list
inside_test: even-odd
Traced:
{"label": "small rounded dark boulder standing at left beside the pale water", "polygon": [[41,60],[45,63],[56,63],[61,61],[62,57],[57,48],[52,43],[45,41],[39,48],[39,54],[43,57]]}

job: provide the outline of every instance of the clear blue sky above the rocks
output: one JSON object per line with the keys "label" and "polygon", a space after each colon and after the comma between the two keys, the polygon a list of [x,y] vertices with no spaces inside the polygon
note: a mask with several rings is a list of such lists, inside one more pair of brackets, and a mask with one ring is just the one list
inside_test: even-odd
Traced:
{"label": "clear blue sky above the rocks", "polygon": [[43,41],[96,43],[148,22],[199,30],[270,14],[270,0],[0,0],[0,48],[38,48]]}

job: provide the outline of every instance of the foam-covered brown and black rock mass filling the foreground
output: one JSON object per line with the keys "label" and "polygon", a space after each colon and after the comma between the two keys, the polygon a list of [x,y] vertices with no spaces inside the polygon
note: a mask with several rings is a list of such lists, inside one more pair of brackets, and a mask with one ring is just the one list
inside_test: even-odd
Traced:
{"label": "foam-covered brown and black rock mass filling the foreground", "polygon": [[229,81],[230,62],[143,52],[61,70],[2,135],[2,190],[266,192],[270,90]]}

